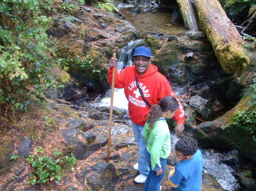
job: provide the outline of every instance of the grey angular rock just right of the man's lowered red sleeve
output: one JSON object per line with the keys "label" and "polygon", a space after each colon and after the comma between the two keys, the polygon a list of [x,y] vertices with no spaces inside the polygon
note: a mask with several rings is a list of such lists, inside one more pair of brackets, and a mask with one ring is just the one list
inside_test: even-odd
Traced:
{"label": "grey angular rock just right of the man's lowered red sleeve", "polygon": [[209,101],[198,95],[192,96],[189,100],[189,105],[195,109],[195,111],[201,114],[205,119],[212,117],[212,109],[210,108]]}

